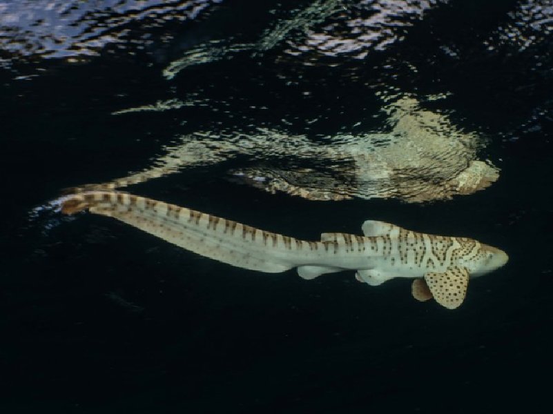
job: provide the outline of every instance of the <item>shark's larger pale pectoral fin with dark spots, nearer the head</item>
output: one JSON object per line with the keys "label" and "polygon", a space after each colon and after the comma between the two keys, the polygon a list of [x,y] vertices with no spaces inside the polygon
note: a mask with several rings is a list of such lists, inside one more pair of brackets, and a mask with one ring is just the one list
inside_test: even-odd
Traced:
{"label": "shark's larger pale pectoral fin with dark spots, nearer the head", "polygon": [[445,273],[427,273],[425,281],[438,304],[455,309],[463,303],[469,286],[466,268],[448,268]]}

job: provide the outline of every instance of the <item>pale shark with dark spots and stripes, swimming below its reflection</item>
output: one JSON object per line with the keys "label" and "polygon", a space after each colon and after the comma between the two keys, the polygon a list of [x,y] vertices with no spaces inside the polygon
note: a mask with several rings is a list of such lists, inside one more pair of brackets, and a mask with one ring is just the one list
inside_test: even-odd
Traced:
{"label": "pale shark with dark spots and stripes, swimming below its reflection", "polygon": [[363,235],[322,233],[305,241],[229,219],[108,190],[59,199],[61,212],[81,210],[113,217],[193,253],[266,273],[297,268],[304,279],[355,270],[356,279],[378,286],[396,277],[414,279],[412,295],[454,309],[465,299],[470,277],[505,265],[503,250],[466,237],[429,235],[383,221],[367,220]]}

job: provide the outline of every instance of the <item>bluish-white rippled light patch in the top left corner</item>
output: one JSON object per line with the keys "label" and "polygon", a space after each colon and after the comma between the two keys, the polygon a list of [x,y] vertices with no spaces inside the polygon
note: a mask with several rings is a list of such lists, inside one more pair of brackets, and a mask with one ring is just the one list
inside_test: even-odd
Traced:
{"label": "bluish-white rippled light patch in the top left corner", "polygon": [[[98,56],[117,43],[150,46],[152,33],[172,21],[200,17],[221,0],[1,0],[0,50],[10,60]],[[139,23],[139,30],[133,26]],[[159,37],[163,37],[160,34]]]}

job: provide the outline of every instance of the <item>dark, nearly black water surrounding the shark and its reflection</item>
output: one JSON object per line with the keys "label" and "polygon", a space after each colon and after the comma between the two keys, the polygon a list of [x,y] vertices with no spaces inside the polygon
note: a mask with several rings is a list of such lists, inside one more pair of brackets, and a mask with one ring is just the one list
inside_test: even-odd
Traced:
{"label": "dark, nearly black water surrounding the shark and its reflection", "polygon": [[[4,0],[0,30],[3,413],[549,411],[550,1]],[[193,132],[378,131],[382,95],[476,132],[498,180],[424,203],[313,201],[229,180],[289,168],[237,151],[128,190],[305,239],[370,218],[505,250],[456,311],[405,280],[255,273],[37,210]],[[186,104],[112,115],[169,99]]]}

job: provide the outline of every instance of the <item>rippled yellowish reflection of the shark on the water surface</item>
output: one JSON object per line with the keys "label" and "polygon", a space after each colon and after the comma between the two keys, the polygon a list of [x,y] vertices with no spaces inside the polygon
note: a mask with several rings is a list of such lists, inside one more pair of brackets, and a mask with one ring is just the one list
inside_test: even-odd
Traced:
{"label": "rippled yellowish reflection of the shark on the water surface", "polygon": [[485,147],[483,137],[458,128],[447,115],[421,108],[413,97],[385,101],[387,119],[377,132],[322,140],[268,128],[228,135],[195,132],[166,146],[166,154],[150,168],[82,189],[115,190],[238,156],[253,164],[229,171],[233,180],[311,200],[443,200],[475,193],[498,179],[498,168],[477,158]]}

